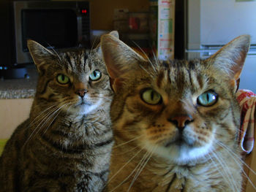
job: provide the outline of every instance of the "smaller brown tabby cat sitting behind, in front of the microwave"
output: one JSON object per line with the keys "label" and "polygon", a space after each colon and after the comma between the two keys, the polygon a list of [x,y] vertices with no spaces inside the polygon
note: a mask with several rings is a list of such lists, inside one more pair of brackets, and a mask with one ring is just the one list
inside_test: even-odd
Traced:
{"label": "smaller brown tabby cat sitting behind, in front of the microwave", "polygon": [[57,54],[32,40],[28,47],[39,72],[37,93],[0,158],[0,191],[102,191],[113,91],[101,48]]}

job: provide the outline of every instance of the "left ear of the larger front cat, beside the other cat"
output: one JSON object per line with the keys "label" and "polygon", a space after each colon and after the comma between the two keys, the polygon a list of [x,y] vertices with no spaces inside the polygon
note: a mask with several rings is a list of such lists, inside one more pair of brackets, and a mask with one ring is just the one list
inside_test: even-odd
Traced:
{"label": "left ear of the larger front cat, beside the other cat", "polygon": [[146,61],[124,42],[110,34],[103,35],[100,42],[110,82],[113,91],[116,92],[122,80],[129,78],[132,71],[139,69],[138,63]]}

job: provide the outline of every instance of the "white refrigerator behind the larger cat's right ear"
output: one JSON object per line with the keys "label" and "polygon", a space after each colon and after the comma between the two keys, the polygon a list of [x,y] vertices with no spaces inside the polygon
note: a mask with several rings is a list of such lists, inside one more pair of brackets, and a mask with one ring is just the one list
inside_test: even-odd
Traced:
{"label": "white refrigerator behind the larger cat's right ear", "polygon": [[256,1],[184,0],[185,55],[208,58],[241,34],[252,37],[240,87],[256,93]]}

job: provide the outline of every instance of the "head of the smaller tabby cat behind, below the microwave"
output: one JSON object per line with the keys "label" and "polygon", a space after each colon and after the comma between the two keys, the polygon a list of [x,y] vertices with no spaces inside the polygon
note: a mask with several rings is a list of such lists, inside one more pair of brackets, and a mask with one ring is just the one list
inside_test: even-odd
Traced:
{"label": "head of the smaller tabby cat behind, below the microwave", "polygon": [[29,49],[39,70],[37,99],[74,115],[89,114],[110,102],[112,91],[99,48],[57,54],[29,41]]}

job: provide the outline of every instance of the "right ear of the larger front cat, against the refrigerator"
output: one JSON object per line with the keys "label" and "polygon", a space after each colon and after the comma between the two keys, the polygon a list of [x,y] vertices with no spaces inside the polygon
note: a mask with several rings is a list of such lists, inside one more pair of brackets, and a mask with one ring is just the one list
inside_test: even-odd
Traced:
{"label": "right ear of the larger front cat, against the refrigerator", "polygon": [[236,86],[249,50],[251,37],[242,35],[227,43],[217,53],[208,58],[214,61],[214,66],[228,74],[232,84]]}

